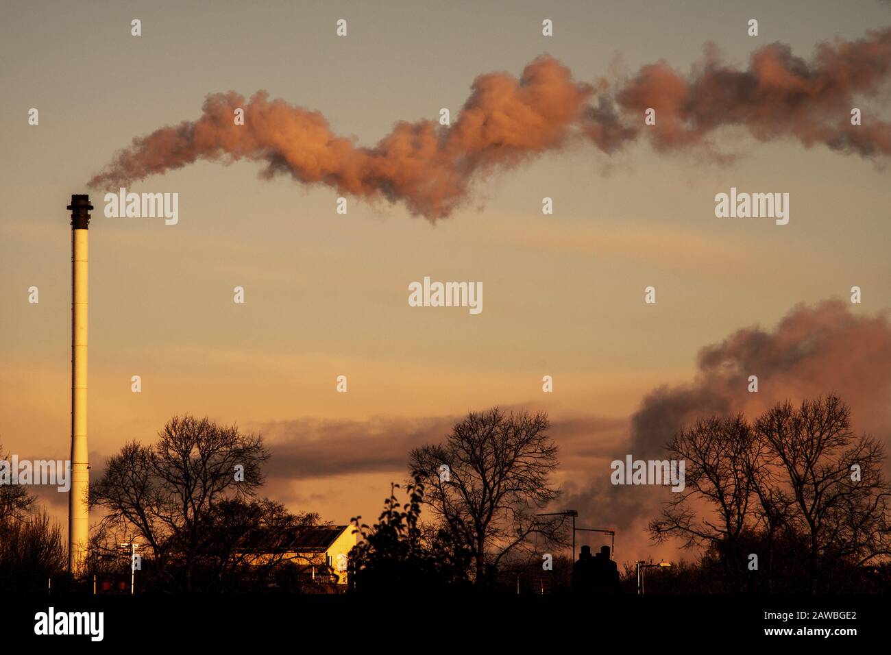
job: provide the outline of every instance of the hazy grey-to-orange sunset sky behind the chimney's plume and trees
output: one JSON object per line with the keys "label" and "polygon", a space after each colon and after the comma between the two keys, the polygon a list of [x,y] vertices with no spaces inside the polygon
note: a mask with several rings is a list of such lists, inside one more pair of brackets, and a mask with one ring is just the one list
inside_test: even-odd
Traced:
{"label": "hazy grey-to-orange sunset sky behind the chimney's plume and trees", "polygon": [[[468,201],[435,224],[404,202],[349,196],[339,215],[336,190],[261,179],[250,161],[200,161],[128,187],[179,193],[178,225],[104,217],[102,192],[86,188],[135,136],[198,119],[211,93],[265,89],[373,146],[398,120],[437,120],[446,107],[454,121],[474,78],[519,76],[543,53],[589,84],[659,60],[687,74],[709,42],[740,69],[774,41],[810,61],[822,42],[891,25],[887,3],[213,6],[0,10],[4,452],[69,457],[65,206],[81,192],[96,208],[94,478],[105,457],[131,439],[151,442],[170,416],[207,415],[267,438],[271,497],[323,520],[368,520],[389,482],[404,479],[408,451],[443,438],[462,414],[543,410],[567,494],[555,509],[574,507],[580,525],[618,526],[617,559],[630,561],[671,556],[674,546],[648,544],[643,528],[658,499],[608,488],[609,461],[656,454],[648,447],[670,438],[680,415],[658,412],[678,396],[695,414],[711,406],[698,405],[700,395],[756,411],[837,391],[858,429],[891,443],[887,159],[789,138],[762,143],[736,127],[714,135],[737,155],[722,165],[695,147],[659,153],[639,140],[608,155],[574,142],[474,178]],[[130,35],[135,18],[141,37]],[[341,18],[347,37],[335,36]],[[758,37],[747,35],[751,18]],[[553,37],[542,36],[544,19]],[[889,119],[889,88],[856,105],[864,126]],[[28,124],[30,108],[38,126]],[[715,194],[731,187],[789,193],[789,225],[716,218]],[[544,197],[552,215],[542,213]],[[409,307],[408,285],[425,275],[483,282],[482,313]],[[643,301],[650,285],[655,305]],[[850,303],[854,285],[860,305]],[[233,303],[235,286],[243,305]],[[820,304],[828,299],[837,302]],[[764,332],[732,336],[753,326]],[[717,355],[698,359],[715,344]],[[746,389],[750,374],[757,396]],[[133,375],[142,393],[131,392]],[[339,375],[347,393],[335,389]],[[543,393],[544,375],[553,393]],[[663,385],[663,396],[650,396]],[[42,497],[64,520],[67,496]]]}

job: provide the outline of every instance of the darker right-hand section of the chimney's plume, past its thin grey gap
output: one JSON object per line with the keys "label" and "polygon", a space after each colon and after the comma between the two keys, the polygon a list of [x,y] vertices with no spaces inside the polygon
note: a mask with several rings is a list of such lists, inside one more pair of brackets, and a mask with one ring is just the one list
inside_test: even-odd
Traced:
{"label": "darker right-hand section of the chimney's plume, past its thin grey gap", "polygon": [[[644,66],[616,98],[625,115],[656,110],[656,124],[645,133],[658,151],[711,149],[707,138],[717,128],[739,126],[760,141],[789,137],[805,147],[819,143],[848,154],[887,157],[891,124],[868,115],[862,125],[852,125],[851,111],[858,107],[856,96],[879,93],[889,68],[891,28],[856,41],[821,44],[812,61],[793,55],[789,45],[765,45],[752,54],[747,70],[723,64],[708,45],[690,76],[659,61]],[[601,125],[596,117],[594,124]],[[615,130],[605,131],[613,141],[608,138],[601,147],[614,150]],[[595,143],[601,143],[595,134]],[[637,134],[640,130],[625,138]]]}

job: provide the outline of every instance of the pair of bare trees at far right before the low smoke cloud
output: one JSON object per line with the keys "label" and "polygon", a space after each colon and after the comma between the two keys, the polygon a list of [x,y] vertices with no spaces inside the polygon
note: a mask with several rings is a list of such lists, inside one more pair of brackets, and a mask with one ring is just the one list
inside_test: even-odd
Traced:
{"label": "pair of bare trees at far right before the low smoke cloud", "polygon": [[685,490],[651,521],[654,539],[707,547],[737,585],[743,543],[766,548],[768,589],[778,546],[787,572],[800,570],[812,592],[833,571],[891,555],[884,450],[854,435],[836,396],[776,405],[753,424],[741,415],[701,420],[668,450],[686,461]]}

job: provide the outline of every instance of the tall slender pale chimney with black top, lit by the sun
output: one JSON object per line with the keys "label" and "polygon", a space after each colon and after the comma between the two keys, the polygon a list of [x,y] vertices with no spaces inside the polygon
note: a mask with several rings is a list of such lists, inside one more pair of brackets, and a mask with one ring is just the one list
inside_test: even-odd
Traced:
{"label": "tall slender pale chimney with black top, lit by the sun", "polygon": [[68,569],[75,577],[85,573],[89,538],[90,484],[86,454],[86,299],[87,240],[90,197],[71,195],[71,489],[68,514]]}

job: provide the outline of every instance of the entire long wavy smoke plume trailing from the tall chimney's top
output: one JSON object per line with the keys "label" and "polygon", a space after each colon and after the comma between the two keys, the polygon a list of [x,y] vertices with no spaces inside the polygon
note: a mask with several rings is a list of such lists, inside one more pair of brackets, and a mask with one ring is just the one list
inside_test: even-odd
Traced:
{"label": "entire long wavy smoke plume trailing from the tall chimney's top", "polygon": [[[358,198],[403,202],[433,221],[467,201],[478,177],[576,140],[612,153],[647,135],[660,152],[696,147],[730,160],[710,137],[736,126],[761,141],[793,138],[806,147],[887,157],[891,124],[864,112],[854,126],[851,110],[862,109],[855,98],[879,94],[889,67],[891,28],[822,44],[811,61],[788,45],[766,45],[747,70],[723,64],[707,45],[689,75],[658,61],[612,89],[604,79],[576,82],[560,61],[543,55],[519,79],[479,76],[453,125],[398,122],[372,148],[334,135],[321,113],[269,100],[263,91],[248,102],[234,92],[211,94],[199,119],[136,137],[89,186],[117,189],[197,160],[245,159],[263,164],[264,177],[287,174]],[[235,125],[238,108],[244,125]],[[650,108],[656,123],[644,126]]]}

